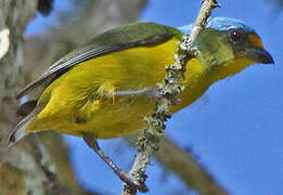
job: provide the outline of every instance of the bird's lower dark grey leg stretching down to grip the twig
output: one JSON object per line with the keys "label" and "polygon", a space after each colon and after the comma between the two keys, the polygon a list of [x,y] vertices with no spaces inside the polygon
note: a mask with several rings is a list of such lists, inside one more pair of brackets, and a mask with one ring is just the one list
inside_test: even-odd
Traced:
{"label": "bird's lower dark grey leg stretching down to grip the twig", "polygon": [[141,182],[136,180],[129,172],[123,171],[118,168],[110,157],[107,157],[102,150],[100,148],[97,140],[93,139],[91,134],[83,134],[83,141],[88,144],[90,148],[92,148],[110,167],[111,169],[117,174],[120,180],[129,185],[137,187],[140,192],[147,192],[147,186]]}

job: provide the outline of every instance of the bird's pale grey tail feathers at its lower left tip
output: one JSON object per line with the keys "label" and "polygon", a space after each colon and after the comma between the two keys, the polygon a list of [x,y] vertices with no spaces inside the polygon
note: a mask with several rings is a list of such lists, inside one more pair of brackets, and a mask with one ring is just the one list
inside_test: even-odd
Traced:
{"label": "bird's pale grey tail feathers at its lower left tip", "polygon": [[31,110],[25,118],[23,118],[16,127],[11,131],[8,141],[7,146],[11,146],[15,144],[18,140],[24,138],[26,133],[26,128],[29,125],[29,122],[42,110],[42,107],[35,107],[34,110]]}

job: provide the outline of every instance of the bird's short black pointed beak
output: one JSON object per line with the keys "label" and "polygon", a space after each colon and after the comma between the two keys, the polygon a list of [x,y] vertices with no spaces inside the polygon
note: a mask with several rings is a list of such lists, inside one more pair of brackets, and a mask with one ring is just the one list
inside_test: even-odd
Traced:
{"label": "bird's short black pointed beak", "polygon": [[274,64],[273,57],[262,48],[250,48],[247,51],[248,58],[261,64]]}

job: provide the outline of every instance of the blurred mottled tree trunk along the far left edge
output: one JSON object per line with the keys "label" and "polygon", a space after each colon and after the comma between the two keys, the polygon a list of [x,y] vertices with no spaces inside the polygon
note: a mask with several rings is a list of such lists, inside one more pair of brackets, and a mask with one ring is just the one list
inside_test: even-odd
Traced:
{"label": "blurred mottled tree trunk along the far left edge", "polygon": [[[26,24],[35,16],[36,0],[0,1],[0,31],[8,30],[9,37],[1,36],[1,42],[8,38],[9,48],[0,62],[0,138],[1,145],[16,121],[16,102],[13,94],[17,89],[21,66],[23,65],[23,35]],[[3,194],[27,194],[33,188],[39,192],[43,172],[29,154],[27,147],[12,150],[0,148],[0,192]],[[34,182],[33,182],[34,181]]]}

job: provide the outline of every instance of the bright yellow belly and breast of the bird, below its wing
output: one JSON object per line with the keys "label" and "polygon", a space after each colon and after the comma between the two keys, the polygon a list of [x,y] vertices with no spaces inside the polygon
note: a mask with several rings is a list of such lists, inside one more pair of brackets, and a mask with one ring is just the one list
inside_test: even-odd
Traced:
{"label": "bright yellow belly and breast of the bird, below its wing", "polygon": [[[141,94],[114,95],[117,91],[154,88],[165,77],[165,65],[173,63],[177,40],[140,47],[76,65],[42,93],[44,108],[28,125],[27,132],[55,130],[97,139],[113,139],[141,130],[143,117],[154,112],[155,100]],[[185,91],[177,112],[197,100],[209,87],[202,64],[188,63]]]}

